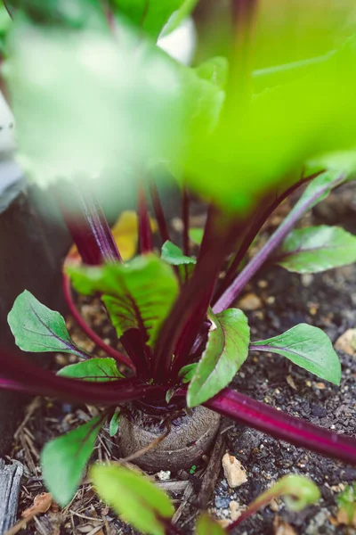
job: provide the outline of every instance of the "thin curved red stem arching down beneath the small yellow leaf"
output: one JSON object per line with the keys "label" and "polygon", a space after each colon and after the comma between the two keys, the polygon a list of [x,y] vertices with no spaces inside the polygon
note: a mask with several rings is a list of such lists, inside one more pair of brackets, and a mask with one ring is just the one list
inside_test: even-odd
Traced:
{"label": "thin curved red stem arching down beneath the small yellow leaf", "polygon": [[90,328],[89,325],[85,322],[84,318],[80,315],[79,311],[77,310],[76,304],[73,300],[72,292],[71,292],[71,286],[70,286],[70,279],[69,276],[63,273],[63,293],[64,293],[64,299],[67,302],[69,312],[74,317],[74,319],[77,322],[77,325],[82,329],[82,331],[93,340],[93,342],[101,348],[101,350],[105,351],[109,357],[115,358],[117,362],[120,364],[123,364],[124,366],[129,367],[133,372],[136,371],[136,368],[134,364],[131,362],[130,358],[125,357],[123,353],[120,351],[115,350],[111,346],[109,346],[107,343],[105,343],[98,334],[94,333],[93,329]]}

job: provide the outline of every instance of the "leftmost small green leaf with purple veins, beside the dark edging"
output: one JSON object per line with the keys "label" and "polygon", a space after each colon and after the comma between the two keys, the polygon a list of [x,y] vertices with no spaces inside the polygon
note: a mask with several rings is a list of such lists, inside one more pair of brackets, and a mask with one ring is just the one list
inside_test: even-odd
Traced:
{"label": "leftmost small green leaf with purple veins, beside the dark edging", "polygon": [[81,358],[90,356],[71,340],[61,314],[45,307],[27,290],[14,301],[7,321],[20,350],[61,351]]}

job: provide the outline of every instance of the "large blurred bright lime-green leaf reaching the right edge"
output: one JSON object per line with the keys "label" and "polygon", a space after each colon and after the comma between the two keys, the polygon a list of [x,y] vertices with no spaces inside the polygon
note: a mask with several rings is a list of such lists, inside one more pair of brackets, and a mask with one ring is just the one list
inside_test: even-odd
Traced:
{"label": "large blurred bright lime-green leaf reaching the right edge", "polygon": [[354,43],[355,38],[348,40],[307,76],[267,89],[247,103],[228,94],[217,128],[207,136],[202,127],[192,136],[188,185],[226,210],[244,212],[267,190],[289,185],[291,176],[299,179],[305,161],[352,148]]}

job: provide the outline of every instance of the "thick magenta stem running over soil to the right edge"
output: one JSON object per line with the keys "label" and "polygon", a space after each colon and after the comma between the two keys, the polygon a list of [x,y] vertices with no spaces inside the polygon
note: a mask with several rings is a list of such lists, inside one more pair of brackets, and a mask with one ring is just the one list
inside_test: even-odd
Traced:
{"label": "thick magenta stem running over soil to the right edge", "polygon": [[[185,389],[178,391],[182,395]],[[184,395],[184,394],[183,394]],[[312,449],[327,457],[335,457],[356,465],[356,440],[329,432],[276,408],[225,388],[204,403],[215,412],[266,432],[279,440],[286,440],[305,449]]]}

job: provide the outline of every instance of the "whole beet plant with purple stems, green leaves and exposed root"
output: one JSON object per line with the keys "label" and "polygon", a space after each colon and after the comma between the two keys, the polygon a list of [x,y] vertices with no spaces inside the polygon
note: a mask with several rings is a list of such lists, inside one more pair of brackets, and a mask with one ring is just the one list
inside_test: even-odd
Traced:
{"label": "whole beet plant with purple stems, green leaves and exposed root", "polygon": [[[267,259],[297,273],[356,260],[356,237],[340,227],[294,230],[307,210],[352,178],[354,38],[308,62],[253,70],[258,6],[234,0],[229,61],[217,57],[189,68],[155,43],[194,4],[76,0],[69,9],[64,0],[45,7],[30,0],[6,3],[13,24],[3,74],[17,120],[19,161],[29,176],[50,184],[78,251],[63,274],[69,309],[107,354],[98,358],[79,348],[63,317],[30,292],[15,300],[8,321],[21,350],[66,352],[78,362],[53,374],[3,351],[0,387],[100,407],[100,416],[42,452],[45,484],[61,506],[73,498],[106,424],[111,435],[119,429],[125,456],[138,452],[137,463],[149,470],[155,463],[165,468],[163,463],[197,461],[214,440],[216,415],[356,462],[354,438],[229,388],[255,351],[278,353],[340,383],[340,362],[326,333],[301,324],[252,341],[247,317],[234,303]],[[137,202],[140,254],[128,262],[95,196],[108,173],[114,178],[102,186],[107,194],[118,183],[120,202]],[[168,176],[182,192],[182,249],[165,216],[161,192]],[[265,221],[303,186],[293,209],[249,259]],[[190,254],[190,237],[198,234],[189,226],[191,193],[207,205],[197,258]],[[85,324],[72,287],[101,297],[122,350]],[[115,505],[116,485],[127,489],[129,508],[131,498],[140,499],[130,498],[131,489],[140,488],[135,473],[122,469],[116,480],[114,468],[101,468],[94,468],[93,480],[100,490],[107,474],[102,496],[109,503]],[[157,525],[148,531],[176,530],[165,521],[171,506],[162,507],[153,513],[149,507],[147,523],[153,518]]]}

